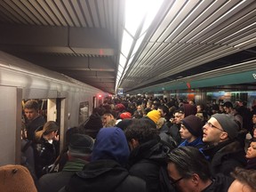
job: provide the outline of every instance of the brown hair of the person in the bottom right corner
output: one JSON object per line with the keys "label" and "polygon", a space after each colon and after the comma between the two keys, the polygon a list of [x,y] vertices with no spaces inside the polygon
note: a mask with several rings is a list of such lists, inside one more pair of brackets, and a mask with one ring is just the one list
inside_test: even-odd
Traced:
{"label": "brown hair of the person in the bottom right corner", "polygon": [[256,170],[245,170],[241,167],[236,167],[235,171],[231,172],[231,176],[235,178],[235,180],[256,190]]}

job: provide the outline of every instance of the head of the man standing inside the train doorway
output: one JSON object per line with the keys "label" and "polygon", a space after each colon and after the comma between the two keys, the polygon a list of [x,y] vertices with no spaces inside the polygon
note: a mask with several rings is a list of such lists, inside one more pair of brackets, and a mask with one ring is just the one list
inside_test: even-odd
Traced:
{"label": "head of the man standing inside the train doorway", "polygon": [[24,107],[24,113],[28,120],[32,121],[38,116],[39,106],[36,100],[28,100]]}

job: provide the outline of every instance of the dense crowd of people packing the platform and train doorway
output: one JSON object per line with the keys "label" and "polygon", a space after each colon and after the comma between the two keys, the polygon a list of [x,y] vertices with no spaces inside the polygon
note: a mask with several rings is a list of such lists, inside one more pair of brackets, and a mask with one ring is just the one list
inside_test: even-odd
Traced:
{"label": "dense crowd of people packing the platform and train doorway", "polygon": [[[230,101],[203,105],[166,98],[108,98],[84,124],[68,128],[59,151],[58,124],[45,122],[36,100],[28,100],[21,165],[0,167],[0,188],[256,191],[256,101],[252,108],[241,100],[234,106]],[[8,179],[21,175],[29,175],[22,176],[23,188],[7,185]]]}

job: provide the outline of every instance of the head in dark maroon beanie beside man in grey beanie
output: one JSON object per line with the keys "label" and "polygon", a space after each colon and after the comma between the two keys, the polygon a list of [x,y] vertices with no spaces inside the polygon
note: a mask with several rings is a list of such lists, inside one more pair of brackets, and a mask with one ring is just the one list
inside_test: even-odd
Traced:
{"label": "head in dark maroon beanie beside man in grey beanie", "polygon": [[186,116],[181,120],[180,136],[184,140],[193,141],[198,137],[202,137],[203,131],[202,120],[194,115]]}

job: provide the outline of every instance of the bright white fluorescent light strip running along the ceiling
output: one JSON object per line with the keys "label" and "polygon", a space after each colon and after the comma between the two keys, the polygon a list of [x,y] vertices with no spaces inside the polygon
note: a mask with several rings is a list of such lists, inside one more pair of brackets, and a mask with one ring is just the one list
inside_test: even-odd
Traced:
{"label": "bright white fluorescent light strip running along the ceiling", "polygon": [[124,32],[119,56],[118,78],[116,76],[116,90],[119,88],[124,73],[132,66],[133,56],[139,50],[163,2],[164,0],[125,1]]}

